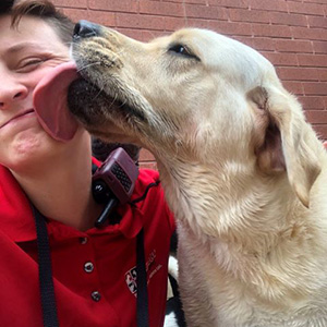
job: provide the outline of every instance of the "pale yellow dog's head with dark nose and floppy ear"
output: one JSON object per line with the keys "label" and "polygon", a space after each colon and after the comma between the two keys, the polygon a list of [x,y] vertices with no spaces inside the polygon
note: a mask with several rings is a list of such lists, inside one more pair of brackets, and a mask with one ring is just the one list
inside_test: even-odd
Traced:
{"label": "pale yellow dog's head with dark nose and floppy ear", "polygon": [[102,138],[135,142],[159,160],[253,162],[288,172],[303,204],[319,173],[316,140],[269,61],[210,31],[150,43],[81,22],[72,56],[83,80],[71,111]]}

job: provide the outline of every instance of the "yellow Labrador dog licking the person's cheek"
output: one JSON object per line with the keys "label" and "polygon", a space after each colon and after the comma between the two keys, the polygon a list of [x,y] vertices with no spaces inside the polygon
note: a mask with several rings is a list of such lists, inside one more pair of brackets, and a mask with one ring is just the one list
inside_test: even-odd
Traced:
{"label": "yellow Labrador dog licking the person's cheek", "polygon": [[72,112],[158,161],[187,326],[327,326],[327,155],[272,64],[210,31],[83,21],[72,56]]}

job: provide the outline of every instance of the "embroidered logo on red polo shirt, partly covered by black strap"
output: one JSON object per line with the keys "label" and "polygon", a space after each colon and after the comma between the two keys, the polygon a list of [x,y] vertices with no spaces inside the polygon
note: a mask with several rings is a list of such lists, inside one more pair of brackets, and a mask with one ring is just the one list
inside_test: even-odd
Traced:
{"label": "embroidered logo on red polo shirt, partly covered by black strap", "polygon": [[[157,264],[156,265],[156,250],[154,250],[145,264],[145,268],[146,268],[146,272],[147,272],[147,284],[149,284],[152,278],[156,275],[156,272],[158,272],[161,268],[162,265],[161,264]],[[133,268],[131,268],[129,271],[125,272],[125,282],[131,291],[132,294],[134,294],[135,296],[137,296],[137,282],[136,282],[136,267],[134,266]]]}

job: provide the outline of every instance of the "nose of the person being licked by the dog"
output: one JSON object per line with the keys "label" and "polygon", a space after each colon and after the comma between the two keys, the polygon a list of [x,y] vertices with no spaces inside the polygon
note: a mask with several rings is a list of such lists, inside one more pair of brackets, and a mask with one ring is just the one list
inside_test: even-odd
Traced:
{"label": "nose of the person being licked by the dog", "polygon": [[0,85],[0,110],[10,109],[14,104],[23,100],[28,95],[28,89],[25,85],[4,78],[4,83]]}

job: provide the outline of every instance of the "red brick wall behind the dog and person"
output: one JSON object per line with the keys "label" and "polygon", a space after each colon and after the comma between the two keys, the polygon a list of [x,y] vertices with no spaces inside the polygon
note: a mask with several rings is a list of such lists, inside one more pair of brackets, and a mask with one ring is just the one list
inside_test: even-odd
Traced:
{"label": "red brick wall behind the dog and person", "polygon": [[[255,48],[277,68],[327,140],[327,0],[53,0],[69,16],[149,40],[183,26],[214,29]],[[142,165],[155,168],[143,150]]]}

